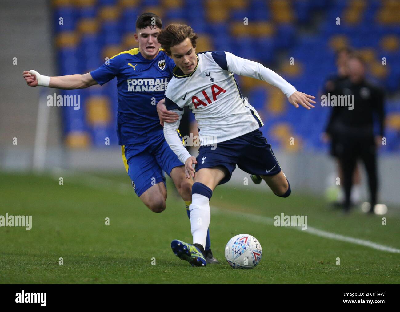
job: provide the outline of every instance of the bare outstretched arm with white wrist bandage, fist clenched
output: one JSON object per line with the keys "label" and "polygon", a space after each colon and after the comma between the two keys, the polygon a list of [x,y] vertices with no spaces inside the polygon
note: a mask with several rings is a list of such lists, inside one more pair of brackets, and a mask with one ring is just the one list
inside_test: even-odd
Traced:
{"label": "bare outstretched arm with white wrist bandage, fist clenched", "polygon": [[59,77],[49,77],[39,74],[36,70],[25,70],[22,73],[26,84],[30,87],[49,87],[56,89],[84,89],[93,85],[97,85],[95,81],[88,72],[87,74],[75,74]]}

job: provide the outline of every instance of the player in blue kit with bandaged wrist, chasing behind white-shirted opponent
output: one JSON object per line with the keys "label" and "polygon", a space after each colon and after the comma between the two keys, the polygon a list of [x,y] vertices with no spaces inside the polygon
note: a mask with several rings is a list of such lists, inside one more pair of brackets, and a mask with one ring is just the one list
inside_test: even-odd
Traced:
{"label": "player in blue kit with bandaged wrist, chasing behind white-shirted opponent", "polygon": [[[139,48],[120,52],[110,58],[109,63],[86,74],[49,77],[29,70],[24,71],[23,76],[30,87],[57,89],[104,85],[117,77],[118,144],[136,195],[151,211],[164,211],[167,197],[165,171],[185,201],[190,218],[193,181],[185,178],[184,165],[165,141],[156,111],[156,104],[164,98],[175,67],[157,41],[161,28],[162,21],[156,14],[143,13],[136,20],[135,39]],[[218,263],[212,256],[209,231],[206,252],[207,263]]]}

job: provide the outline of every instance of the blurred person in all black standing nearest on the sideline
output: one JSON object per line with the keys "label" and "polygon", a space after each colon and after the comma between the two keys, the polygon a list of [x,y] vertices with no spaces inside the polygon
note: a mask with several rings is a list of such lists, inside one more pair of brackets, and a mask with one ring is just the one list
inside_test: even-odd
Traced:
{"label": "blurred person in all black standing nearest on the sideline", "polygon": [[[334,107],[328,125],[335,135],[335,153],[343,172],[344,211],[350,210],[351,191],[356,162],[361,159],[368,174],[370,212],[377,201],[378,174],[376,149],[384,136],[384,92],[365,78],[366,65],[361,56],[351,54],[347,61],[348,78],[337,82],[336,95],[354,96],[353,109]],[[379,133],[374,135],[374,115],[379,123]]]}

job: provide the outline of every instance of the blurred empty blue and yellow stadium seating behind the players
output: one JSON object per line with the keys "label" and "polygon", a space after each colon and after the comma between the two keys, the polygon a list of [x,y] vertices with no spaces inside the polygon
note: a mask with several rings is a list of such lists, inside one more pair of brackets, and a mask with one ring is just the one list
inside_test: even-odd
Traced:
{"label": "blurred empty blue and yellow stadium seating behind the players", "polygon": [[[342,46],[363,54],[369,78],[388,94],[400,91],[399,1],[54,0],[52,4],[60,75],[89,72],[106,57],[137,46],[136,17],[151,11],[160,15],[164,25],[190,24],[200,35],[198,52],[225,50],[256,60],[317,98],[326,77],[336,70],[334,52]],[[289,64],[290,58],[294,64]],[[288,151],[327,148],[320,134],[328,108],[296,110],[274,87],[247,77],[238,77],[238,83],[262,116],[262,131],[269,142]],[[63,109],[66,144],[101,147],[105,137],[118,144],[115,79],[103,87],[68,94],[81,95],[82,109]],[[387,101],[386,113],[388,144],[382,151],[400,151],[400,101]],[[289,144],[290,137],[295,145]]]}

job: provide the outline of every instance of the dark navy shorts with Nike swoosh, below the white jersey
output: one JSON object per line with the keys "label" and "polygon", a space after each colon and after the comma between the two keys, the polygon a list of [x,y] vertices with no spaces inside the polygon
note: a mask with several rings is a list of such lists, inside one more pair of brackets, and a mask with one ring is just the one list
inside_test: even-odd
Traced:
{"label": "dark navy shorts with Nike swoosh, below the white jersey", "polygon": [[219,184],[228,182],[236,165],[243,171],[254,175],[276,175],[282,170],[272,152],[271,145],[256,129],[234,139],[216,143],[212,146],[201,146],[196,158],[196,171],[202,168],[223,166],[228,173]]}

